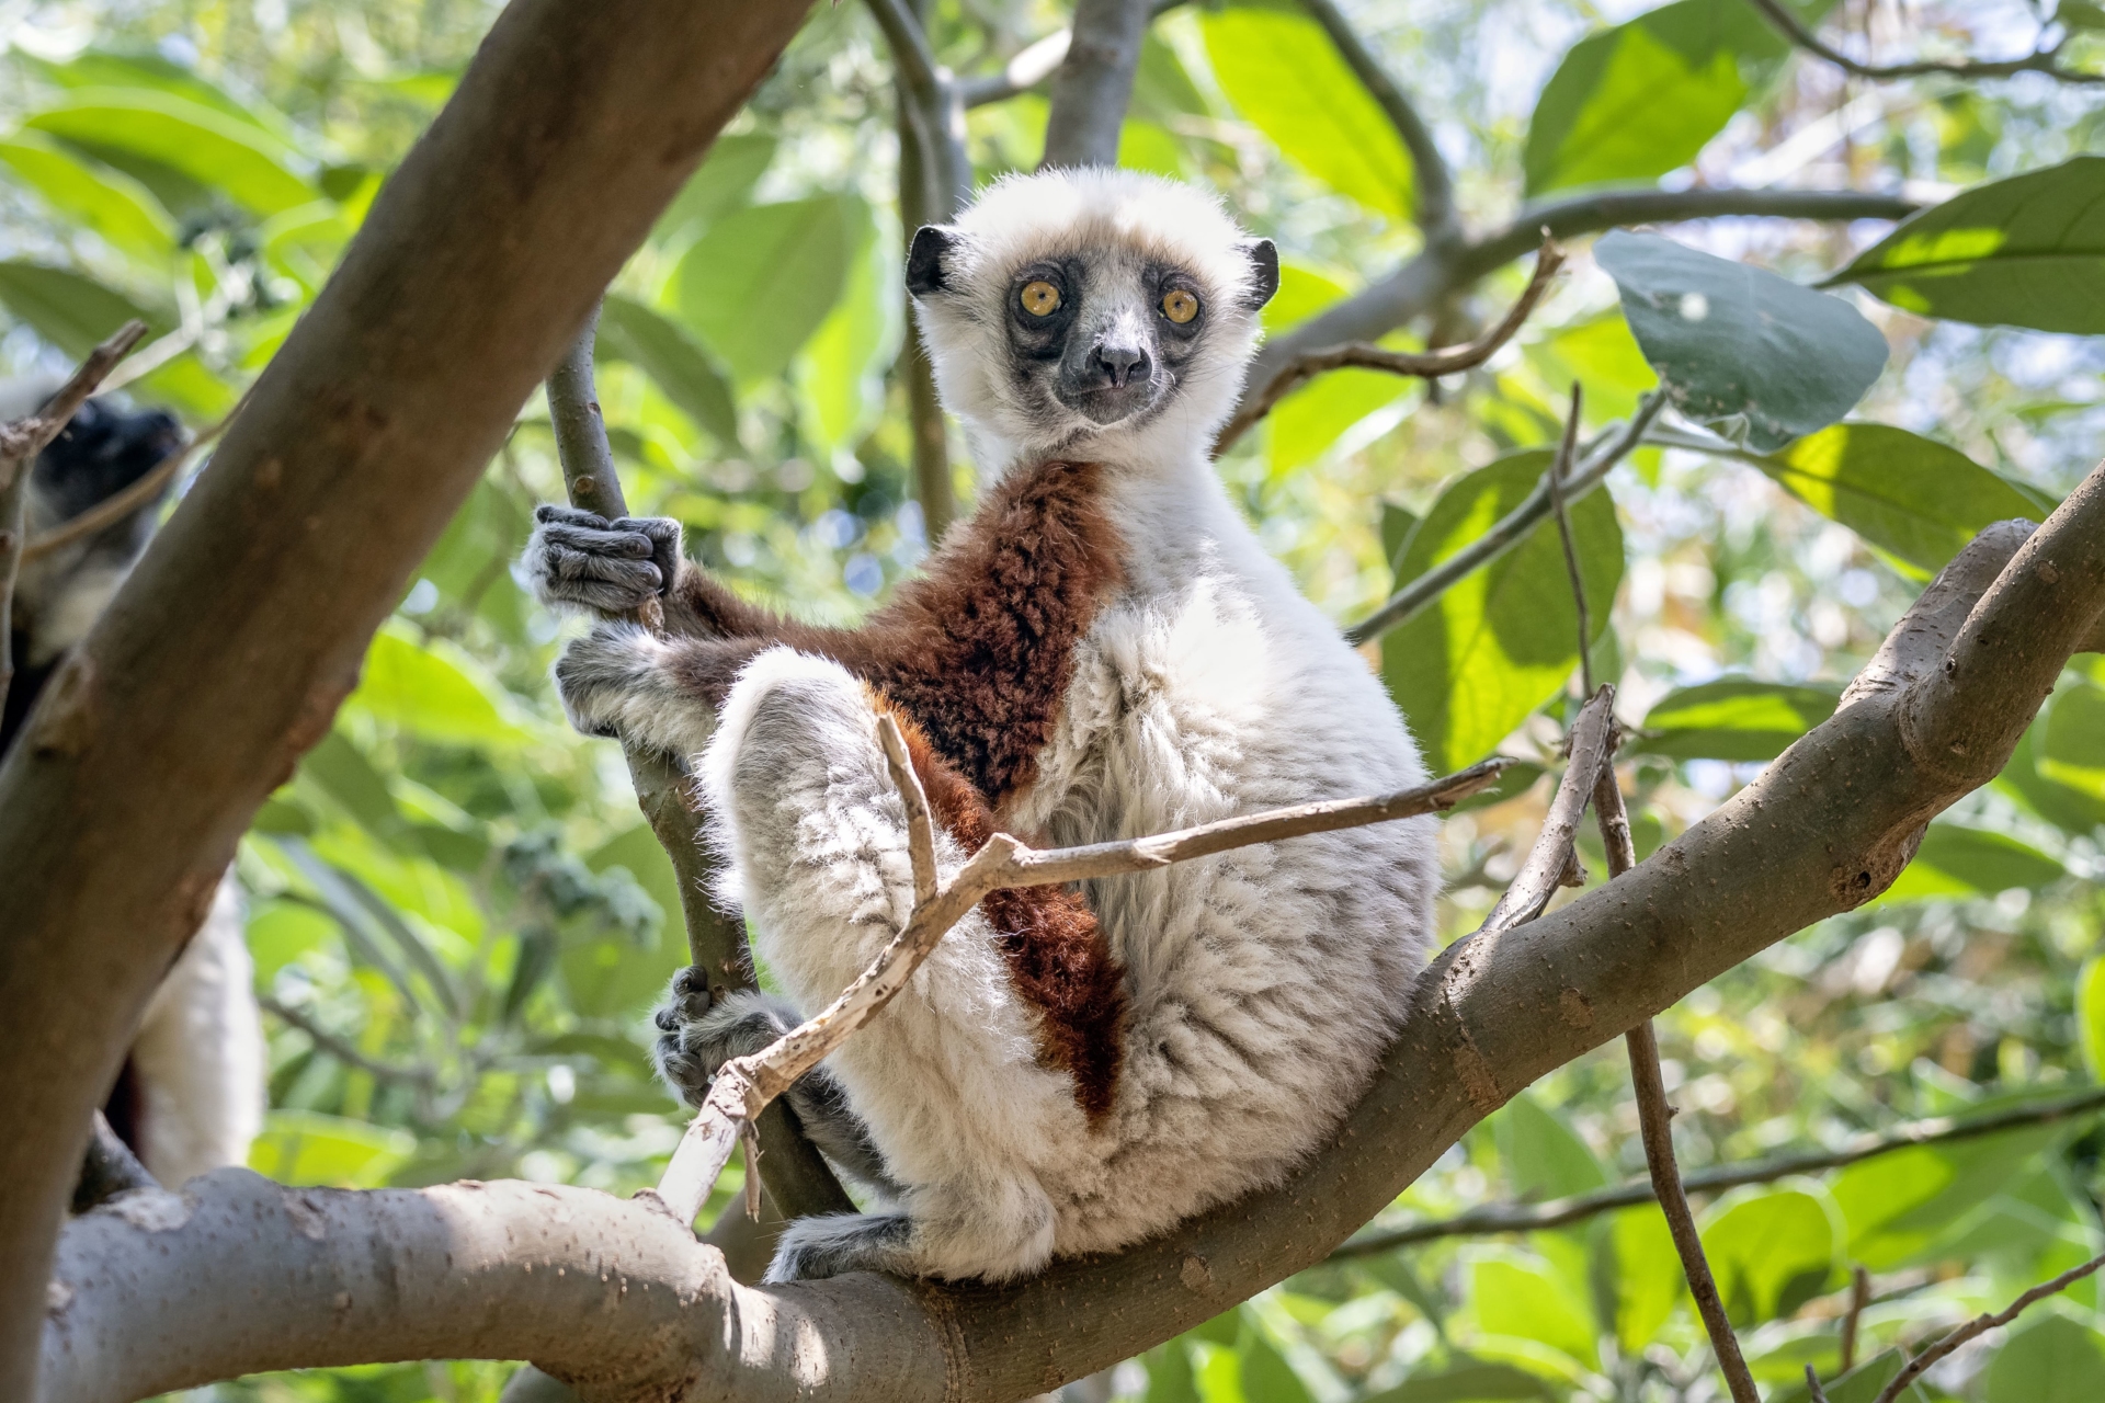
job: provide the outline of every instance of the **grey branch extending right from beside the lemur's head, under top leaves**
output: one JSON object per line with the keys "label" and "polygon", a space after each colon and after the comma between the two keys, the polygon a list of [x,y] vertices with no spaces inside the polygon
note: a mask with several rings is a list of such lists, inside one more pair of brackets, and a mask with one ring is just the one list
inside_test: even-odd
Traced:
{"label": "grey branch extending right from beside the lemur's head, under top leaves", "polygon": [[1434,311],[1444,299],[1541,244],[1543,231],[1568,240],[1621,225],[1724,219],[1907,219],[1911,200],[1850,189],[1606,189],[1549,200],[1520,210],[1509,225],[1459,248],[1427,246],[1375,286],[1347,297],[1276,341],[1267,341],[1250,368],[1250,385],[1267,385],[1280,366],[1305,351],[1345,341],[1379,341],[1398,326]]}

